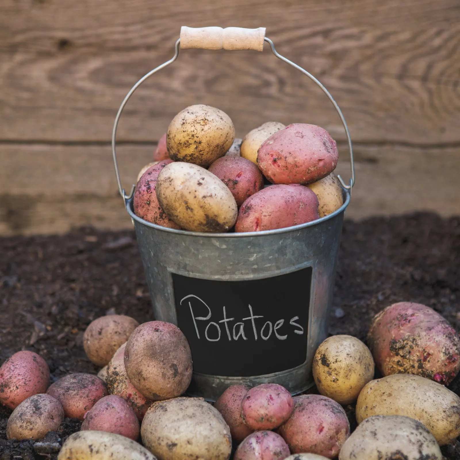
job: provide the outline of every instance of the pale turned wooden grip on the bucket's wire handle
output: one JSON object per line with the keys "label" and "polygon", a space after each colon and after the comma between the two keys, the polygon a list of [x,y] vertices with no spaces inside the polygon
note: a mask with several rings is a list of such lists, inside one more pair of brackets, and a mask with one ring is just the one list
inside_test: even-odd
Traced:
{"label": "pale turned wooden grip on the bucket's wire handle", "polygon": [[180,48],[203,50],[254,50],[264,49],[265,27],[243,29],[242,27],[186,27],[180,29]]}

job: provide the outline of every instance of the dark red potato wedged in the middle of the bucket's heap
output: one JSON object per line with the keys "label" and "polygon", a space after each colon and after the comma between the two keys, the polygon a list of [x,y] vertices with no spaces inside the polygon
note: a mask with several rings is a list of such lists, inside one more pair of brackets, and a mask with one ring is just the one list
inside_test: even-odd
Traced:
{"label": "dark red potato wedged in the middle of the bucket's heap", "polygon": [[230,190],[240,207],[251,195],[264,188],[264,178],[260,169],[241,156],[223,156],[209,167]]}

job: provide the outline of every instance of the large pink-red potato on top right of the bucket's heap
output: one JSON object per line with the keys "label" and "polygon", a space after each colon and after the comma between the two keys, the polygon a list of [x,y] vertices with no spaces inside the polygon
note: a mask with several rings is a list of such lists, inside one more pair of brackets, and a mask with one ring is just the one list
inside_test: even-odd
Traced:
{"label": "large pink-red potato on top right of the bucket's heap", "polygon": [[293,123],[260,146],[257,165],[273,184],[310,184],[332,173],[339,151],[329,133],[316,125]]}

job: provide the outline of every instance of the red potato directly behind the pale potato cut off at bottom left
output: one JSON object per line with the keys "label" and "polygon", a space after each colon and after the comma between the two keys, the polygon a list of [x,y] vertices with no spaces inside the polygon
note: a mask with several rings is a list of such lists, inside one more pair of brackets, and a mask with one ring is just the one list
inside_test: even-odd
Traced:
{"label": "red potato directly behind the pale potato cut off at bottom left", "polygon": [[109,395],[99,399],[85,414],[81,431],[108,431],[136,441],[139,437],[139,420],[131,406],[120,396]]}

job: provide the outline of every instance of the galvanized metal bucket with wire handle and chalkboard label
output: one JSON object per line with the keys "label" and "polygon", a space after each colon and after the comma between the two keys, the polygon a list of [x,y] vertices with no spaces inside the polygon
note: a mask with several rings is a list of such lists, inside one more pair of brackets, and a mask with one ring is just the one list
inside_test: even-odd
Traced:
{"label": "galvanized metal bucket with wire handle and chalkboard label", "polygon": [[[338,176],[343,206],[313,222],[249,233],[174,230],[137,217],[134,186],[129,195],[122,189],[115,154],[116,128],[132,93],[173,63],[179,46],[262,51],[264,41],[276,57],[320,86],[339,113],[351,156],[349,184]],[[313,385],[312,359],[328,333],[340,234],[354,184],[348,127],[326,88],[278,54],[263,28],[182,28],[173,58],[139,80],[121,104],[112,153],[119,191],[136,230],[154,318],[176,324],[190,343],[193,378],[187,394],[214,401],[228,386],[241,383],[274,382],[293,394]]]}

